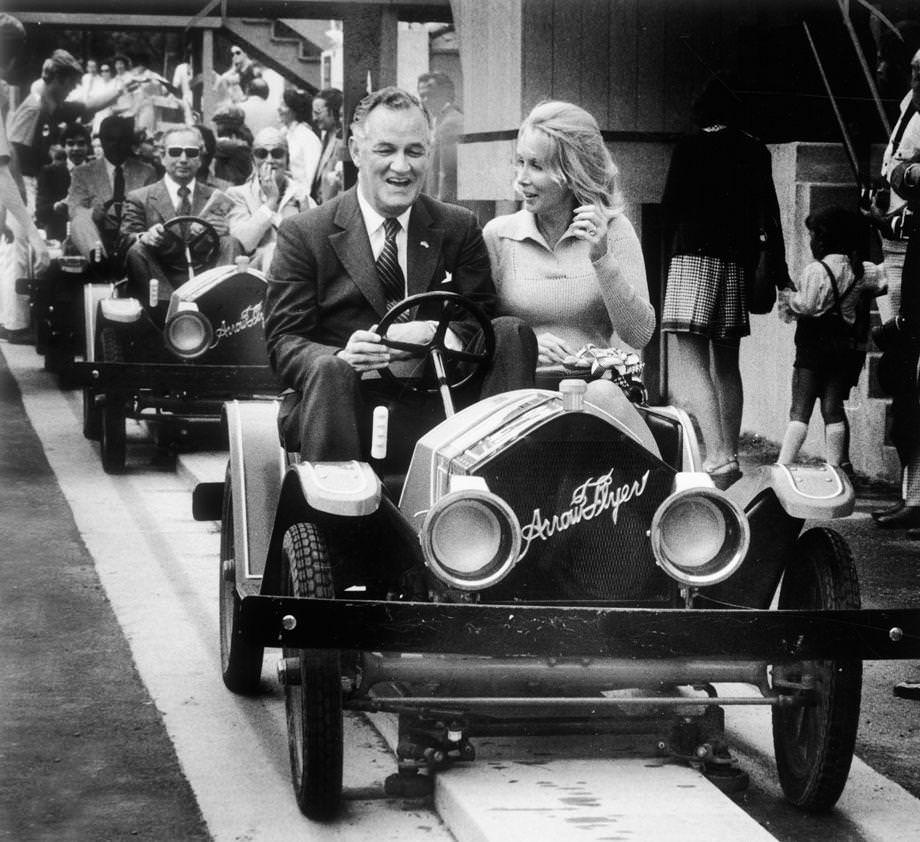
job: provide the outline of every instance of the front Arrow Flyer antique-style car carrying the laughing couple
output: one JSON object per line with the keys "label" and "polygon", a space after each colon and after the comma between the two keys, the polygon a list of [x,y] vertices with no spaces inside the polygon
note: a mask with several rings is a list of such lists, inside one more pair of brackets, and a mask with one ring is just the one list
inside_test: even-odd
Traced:
{"label": "front Arrow Flyer antique-style car carrying the laughing couple", "polygon": [[[415,353],[444,381],[456,296],[415,296],[378,329],[430,296],[444,316]],[[846,477],[772,465],[719,491],[682,412],[625,398],[603,411],[585,388],[448,406],[404,473],[374,459],[300,462],[279,444],[276,404],[225,407],[222,492],[195,495],[196,517],[222,519],[222,677],[256,692],[264,647],[282,647],[307,816],[340,805],[343,710],[398,715],[387,790],[411,795],[473,759],[477,736],[577,730],[636,730],[652,753],[739,786],[722,706],[769,705],[788,798],[836,802],[862,659],[920,653],[913,612],[860,610],[841,536],[803,531],[852,510]],[[722,683],[749,692],[720,696]]]}

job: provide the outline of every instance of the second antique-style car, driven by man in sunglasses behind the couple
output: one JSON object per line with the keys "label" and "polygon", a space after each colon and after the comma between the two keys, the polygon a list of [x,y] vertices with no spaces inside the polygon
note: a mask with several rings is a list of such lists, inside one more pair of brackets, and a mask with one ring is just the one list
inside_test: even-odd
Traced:
{"label": "second antique-style car, driven by man in sunglasses behind the couple", "polygon": [[85,361],[75,377],[84,387],[84,434],[99,440],[110,473],[125,467],[129,418],[168,441],[189,423],[216,423],[232,397],[278,391],[262,335],[265,276],[245,258],[199,271],[217,252],[213,226],[176,217],[165,227],[186,249],[190,278],[168,305],[155,281],[145,299],[119,297],[123,284],[103,286],[103,294],[100,285],[86,287]]}

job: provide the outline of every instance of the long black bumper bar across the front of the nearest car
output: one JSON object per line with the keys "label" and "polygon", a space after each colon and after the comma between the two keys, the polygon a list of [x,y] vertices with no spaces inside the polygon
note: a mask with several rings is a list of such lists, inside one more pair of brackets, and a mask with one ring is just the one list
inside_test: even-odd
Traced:
{"label": "long black bumper bar across the front of the nearest car", "polygon": [[495,657],[920,657],[920,609],[685,610],[249,596],[242,634],[264,646]]}

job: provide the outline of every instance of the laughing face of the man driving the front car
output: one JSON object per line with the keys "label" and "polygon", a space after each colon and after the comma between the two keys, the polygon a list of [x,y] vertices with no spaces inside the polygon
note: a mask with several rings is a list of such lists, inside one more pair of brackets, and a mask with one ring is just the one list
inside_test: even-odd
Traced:
{"label": "laughing face of the man driving the front car", "polygon": [[421,109],[378,106],[349,138],[361,195],[382,216],[408,210],[428,174],[428,121]]}

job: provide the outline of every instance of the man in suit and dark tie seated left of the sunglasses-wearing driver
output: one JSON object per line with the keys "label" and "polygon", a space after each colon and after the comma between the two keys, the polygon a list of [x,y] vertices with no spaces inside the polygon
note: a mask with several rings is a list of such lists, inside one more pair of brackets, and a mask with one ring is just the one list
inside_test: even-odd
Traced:
{"label": "man in suit and dark tie seated left of the sunglasses-wearing driver", "polygon": [[[101,247],[99,259],[104,259],[116,251],[125,195],[153,184],[158,176],[153,167],[134,157],[130,117],[106,117],[99,126],[99,143],[102,154],[71,174],[67,208],[71,243],[87,258]],[[106,208],[110,199],[114,204]]]}

